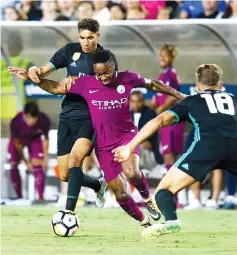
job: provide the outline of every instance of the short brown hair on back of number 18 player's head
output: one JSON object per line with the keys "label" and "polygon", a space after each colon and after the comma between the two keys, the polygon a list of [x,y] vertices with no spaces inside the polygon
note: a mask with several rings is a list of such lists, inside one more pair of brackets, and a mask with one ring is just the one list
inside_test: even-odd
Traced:
{"label": "short brown hair on back of number 18 player's head", "polygon": [[223,72],[216,64],[204,64],[198,67],[197,81],[207,86],[217,86],[222,80]]}

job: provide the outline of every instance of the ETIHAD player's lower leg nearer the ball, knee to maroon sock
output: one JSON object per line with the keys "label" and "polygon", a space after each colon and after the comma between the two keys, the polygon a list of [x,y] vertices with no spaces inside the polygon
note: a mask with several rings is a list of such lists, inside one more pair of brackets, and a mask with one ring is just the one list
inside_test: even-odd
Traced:
{"label": "ETIHAD player's lower leg nearer the ball, knee to maroon sock", "polygon": [[116,200],[120,207],[132,218],[139,221],[142,226],[151,226],[150,221],[144,216],[136,202],[128,194],[125,178],[118,175],[108,182],[108,187],[114,192]]}

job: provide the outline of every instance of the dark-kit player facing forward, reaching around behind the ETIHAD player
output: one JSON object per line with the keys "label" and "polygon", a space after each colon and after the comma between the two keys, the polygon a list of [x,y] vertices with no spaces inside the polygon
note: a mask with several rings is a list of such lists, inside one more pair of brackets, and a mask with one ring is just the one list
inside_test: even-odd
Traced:
{"label": "dark-kit player facing forward, reaching around behind the ETIHAD player", "polygon": [[[68,77],[94,75],[93,54],[103,50],[98,44],[99,27],[94,19],[80,20],[79,42],[59,49],[44,66],[30,68],[31,80],[39,83],[42,77],[60,68],[66,68]],[[59,114],[57,156],[61,180],[68,181],[67,210],[74,211],[81,186],[92,188],[97,193],[97,206],[104,205],[106,183],[103,178],[96,180],[82,171],[83,161],[92,151],[93,139],[94,130],[85,99],[80,95],[66,95]]]}

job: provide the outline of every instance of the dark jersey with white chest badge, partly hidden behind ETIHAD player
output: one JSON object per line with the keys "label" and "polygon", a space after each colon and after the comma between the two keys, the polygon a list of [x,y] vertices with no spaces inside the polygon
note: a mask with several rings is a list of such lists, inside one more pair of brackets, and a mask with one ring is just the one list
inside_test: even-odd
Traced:
{"label": "dark jersey with white chest badge, partly hidden behind ETIHAD player", "polygon": [[[103,47],[98,45],[98,50]],[[50,59],[55,70],[59,68],[67,69],[67,77],[94,75],[93,55],[82,51],[80,43],[69,43],[59,49]],[[117,63],[116,63],[117,69]],[[66,95],[61,105],[61,118],[82,119],[90,116],[88,105],[84,98],[79,95]]]}

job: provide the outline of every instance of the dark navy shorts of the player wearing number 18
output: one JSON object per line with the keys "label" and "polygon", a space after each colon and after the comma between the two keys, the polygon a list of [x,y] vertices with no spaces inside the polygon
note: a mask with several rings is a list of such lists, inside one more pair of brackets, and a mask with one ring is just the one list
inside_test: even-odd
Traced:
{"label": "dark navy shorts of the player wearing number 18", "polygon": [[237,139],[194,139],[174,166],[200,182],[215,169],[228,169],[227,171],[237,175]]}

